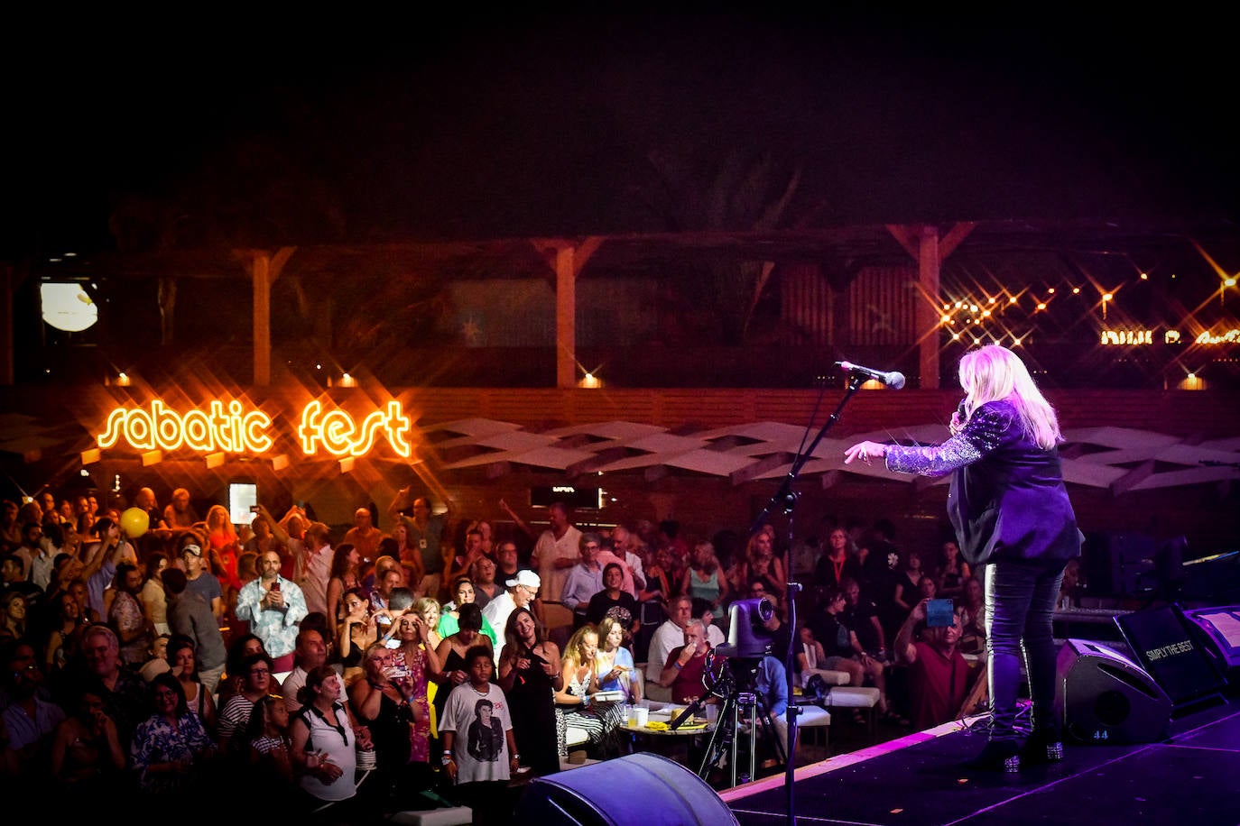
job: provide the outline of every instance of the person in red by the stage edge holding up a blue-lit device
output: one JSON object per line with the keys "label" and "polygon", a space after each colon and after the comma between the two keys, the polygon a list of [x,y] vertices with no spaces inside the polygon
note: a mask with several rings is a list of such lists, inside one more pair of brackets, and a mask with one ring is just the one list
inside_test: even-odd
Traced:
{"label": "person in red by the stage edge holding up a blue-lit device", "polygon": [[960,632],[951,599],[923,599],[895,635],[894,654],[908,666],[909,712],[919,729],[955,719],[968,695],[975,674],[959,650]]}

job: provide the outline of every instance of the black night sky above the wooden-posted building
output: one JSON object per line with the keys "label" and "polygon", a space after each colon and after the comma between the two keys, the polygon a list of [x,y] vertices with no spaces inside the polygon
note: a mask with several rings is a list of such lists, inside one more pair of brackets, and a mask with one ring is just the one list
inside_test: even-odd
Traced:
{"label": "black night sky above the wooden-posted building", "polygon": [[800,168],[790,219],[811,227],[1235,215],[1233,30],[1132,9],[15,31],[0,258],[107,249],[118,204],[175,215],[186,246],[207,224],[294,243],[662,232],[651,159],[693,181],[729,152]]}

